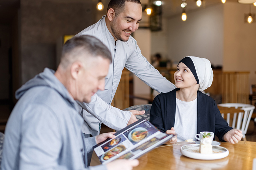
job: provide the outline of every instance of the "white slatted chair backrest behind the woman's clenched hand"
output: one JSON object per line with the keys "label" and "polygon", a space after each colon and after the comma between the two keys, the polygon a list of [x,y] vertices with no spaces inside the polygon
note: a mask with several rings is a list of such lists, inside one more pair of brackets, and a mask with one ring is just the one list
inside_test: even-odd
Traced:
{"label": "white slatted chair backrest behind the woman's clenched hand", "polygon": [[[238,113],[238,117],[237,117],[237,113],[228,113],[227,122],[228,123],[230,122],[229,120],[230,114],[233,114],[232,128],[240,129],[242,131],[243,137],[245,137],[255,106],[251,104],[243,104],[243,103],[222,103],[222,104],[218,104],[218,106],[235,107],[235,108],[240,108],[244,110],[244,112]],[[222,117],[224,118],[223,113],[222,113]]]}

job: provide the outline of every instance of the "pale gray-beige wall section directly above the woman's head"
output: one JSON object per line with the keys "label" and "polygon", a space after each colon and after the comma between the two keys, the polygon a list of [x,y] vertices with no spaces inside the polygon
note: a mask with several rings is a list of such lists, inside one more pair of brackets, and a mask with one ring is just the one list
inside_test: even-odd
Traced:
{"label": "pale gray-beige wall section directly above the woman's head", "polygon": [[187,12],[185,22],[181,15],[169,18],[166,31],[168,58],[178,62],[185,56],[197,56],[209,59],[213,65],[222,65],[223,19],[222,3]]}

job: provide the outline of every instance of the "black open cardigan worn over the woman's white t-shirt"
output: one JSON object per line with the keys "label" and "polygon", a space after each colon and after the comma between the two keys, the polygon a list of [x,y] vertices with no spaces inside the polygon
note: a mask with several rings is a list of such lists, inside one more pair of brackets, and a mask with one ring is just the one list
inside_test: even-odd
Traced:
{"label": "black open cardigan worn over the woman's white t-shirt", "polygon": [[[177,90],[180,89],[176,88],[168,93],[157,95],[151,106],[150,122],[161,132],[165,133],[174,127]],[[179,127],[174,127],[174,129],[177,128]],[[210,96],[197,91],[197,133],[214,132],[219,140],[224,141],[224,134],[232,129],[222,118],[215,101]],[[215,140],[215,136],[213,140]]]}

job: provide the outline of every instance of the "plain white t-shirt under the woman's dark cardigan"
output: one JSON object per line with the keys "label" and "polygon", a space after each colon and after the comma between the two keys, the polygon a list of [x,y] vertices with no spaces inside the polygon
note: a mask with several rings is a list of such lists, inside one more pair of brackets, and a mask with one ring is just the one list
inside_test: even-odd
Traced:
{"label": "plain white t-shirt under the woman's dark cardigan", "polygon": [[176,98],[174,130],[178,134],[178,142],[194,139],[197,134],[197,98],[184,102]]}

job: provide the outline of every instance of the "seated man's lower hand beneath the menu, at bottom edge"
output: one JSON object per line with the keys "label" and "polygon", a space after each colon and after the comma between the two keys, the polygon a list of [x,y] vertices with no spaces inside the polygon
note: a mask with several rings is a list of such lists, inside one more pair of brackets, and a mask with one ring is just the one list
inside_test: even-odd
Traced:
{"label": "seated man's lower hand beneath the menu, at bottom edge", "polygon": [[108,170],[132,170],[133,167],[137,167],[139,165],[139,160],[133,159],[117,159],[113,162],[106,164]]}

